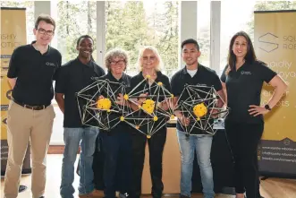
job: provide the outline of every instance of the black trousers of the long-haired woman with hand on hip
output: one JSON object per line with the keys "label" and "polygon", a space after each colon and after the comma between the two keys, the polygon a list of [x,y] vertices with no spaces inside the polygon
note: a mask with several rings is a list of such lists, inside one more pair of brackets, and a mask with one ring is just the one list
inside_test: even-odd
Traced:
{"label": "black trousers of the long-haired woman with hand on hip", "polygon": [[241,124],[225,121],[230,147],[234,158],[234,181],[237,194],[246,190],[248,198],[258,198],[258,142],[264,123]]}

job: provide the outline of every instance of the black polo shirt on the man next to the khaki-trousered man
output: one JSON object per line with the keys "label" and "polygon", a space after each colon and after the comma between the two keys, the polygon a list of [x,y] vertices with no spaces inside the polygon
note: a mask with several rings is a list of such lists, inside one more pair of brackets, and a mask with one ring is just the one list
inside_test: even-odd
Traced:
{"label": "black polo shirt on the man next to the khaki-trousered man", "polygon": [[82,127],[76,93],[93,82],[94,77],[104,74],[105,71],[94,61],[84,65],[78,57],[62,66],[55,82],[55,92],[64,94],[63,127]]}

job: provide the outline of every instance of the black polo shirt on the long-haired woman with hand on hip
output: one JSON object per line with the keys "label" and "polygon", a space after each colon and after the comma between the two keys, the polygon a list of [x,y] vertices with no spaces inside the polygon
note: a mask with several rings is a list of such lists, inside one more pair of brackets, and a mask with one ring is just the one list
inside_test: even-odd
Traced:
{"label": "black polo shirt on the long-haired woman with hand on hip", "polygon": [[276,73],[259,61],[244,63],[237,71],[225,75],[227,67],[221,75],[221,81],[226,83],[227,105],[231,108],[227,119],[240,123],[263,122],[262,115],[249,115],[249,105],[260,105],[263,82],[270,82]]}

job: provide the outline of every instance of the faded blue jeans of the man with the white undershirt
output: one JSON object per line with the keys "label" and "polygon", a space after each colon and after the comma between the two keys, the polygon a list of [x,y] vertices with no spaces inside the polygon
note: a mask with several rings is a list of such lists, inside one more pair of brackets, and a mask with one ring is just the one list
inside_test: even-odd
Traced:
{"label": "faded blue jeans of the man with the white undershirt", "polygon": [[194,151],[196,150],[204,197],[214,198],[213,169],[210,160],[213,136],[190,135],[187,137],[179,130],[177,130],[177,136],[182,156],[181,194],[190,197]]}

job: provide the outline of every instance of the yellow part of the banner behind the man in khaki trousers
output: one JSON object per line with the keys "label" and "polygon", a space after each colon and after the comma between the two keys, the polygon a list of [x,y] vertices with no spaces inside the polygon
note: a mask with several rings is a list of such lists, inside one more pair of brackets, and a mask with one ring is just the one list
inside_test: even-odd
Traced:
{"label": "yellow part of the banner behind the man in khaki trousers", "polygon": [[7,139],[7,108],[12,89],[7,81],[7,71],[13,50],[27,44],[26,10],[1,8],[1,140]]}

